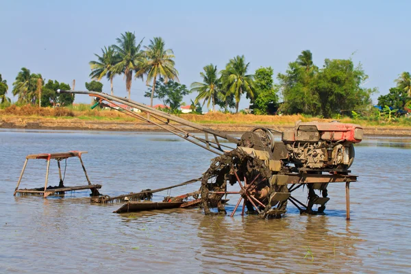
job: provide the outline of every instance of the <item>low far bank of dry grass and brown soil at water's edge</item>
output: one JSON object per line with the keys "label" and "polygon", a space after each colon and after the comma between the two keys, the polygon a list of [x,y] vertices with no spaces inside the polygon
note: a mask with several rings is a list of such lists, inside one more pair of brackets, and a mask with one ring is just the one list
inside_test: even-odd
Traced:
{"label": "low far bank of dry grass and brown soil at water's edge", "polygon": [[[295,116],[256,116],[252,123],[247,123],[245,119],[250,120],[249,115],[224,114],[225,121],[221,119],[212,119],[212,115],[182,115],[182,118],[199,123],[205,127],[219,130],[221,132],[241,133],[247,132],[253,127],[264,126],[284,131],[294,126],[295,121],[300,118]],[[249,116],[249,117],[244,117]],[[271,121],[269,121],[271,120]],[[310,121],[331,121],[327,119],[303,119]],[[360,121],[346,121],[343,123]],[[112,119],[93,119],[89,117],[42,117],[42,116],[10,116],[2,115],[0,119],[0,128],[9,129],[68,129],[68,130],[103,130],[103,131],[121,131],[121,132],[162,132],[163,130],[155,125],[128,119],[126,117],[112,117]],[[364,125],[364,134],[369,136],[411,136],[411,127],[396,125]]]}

